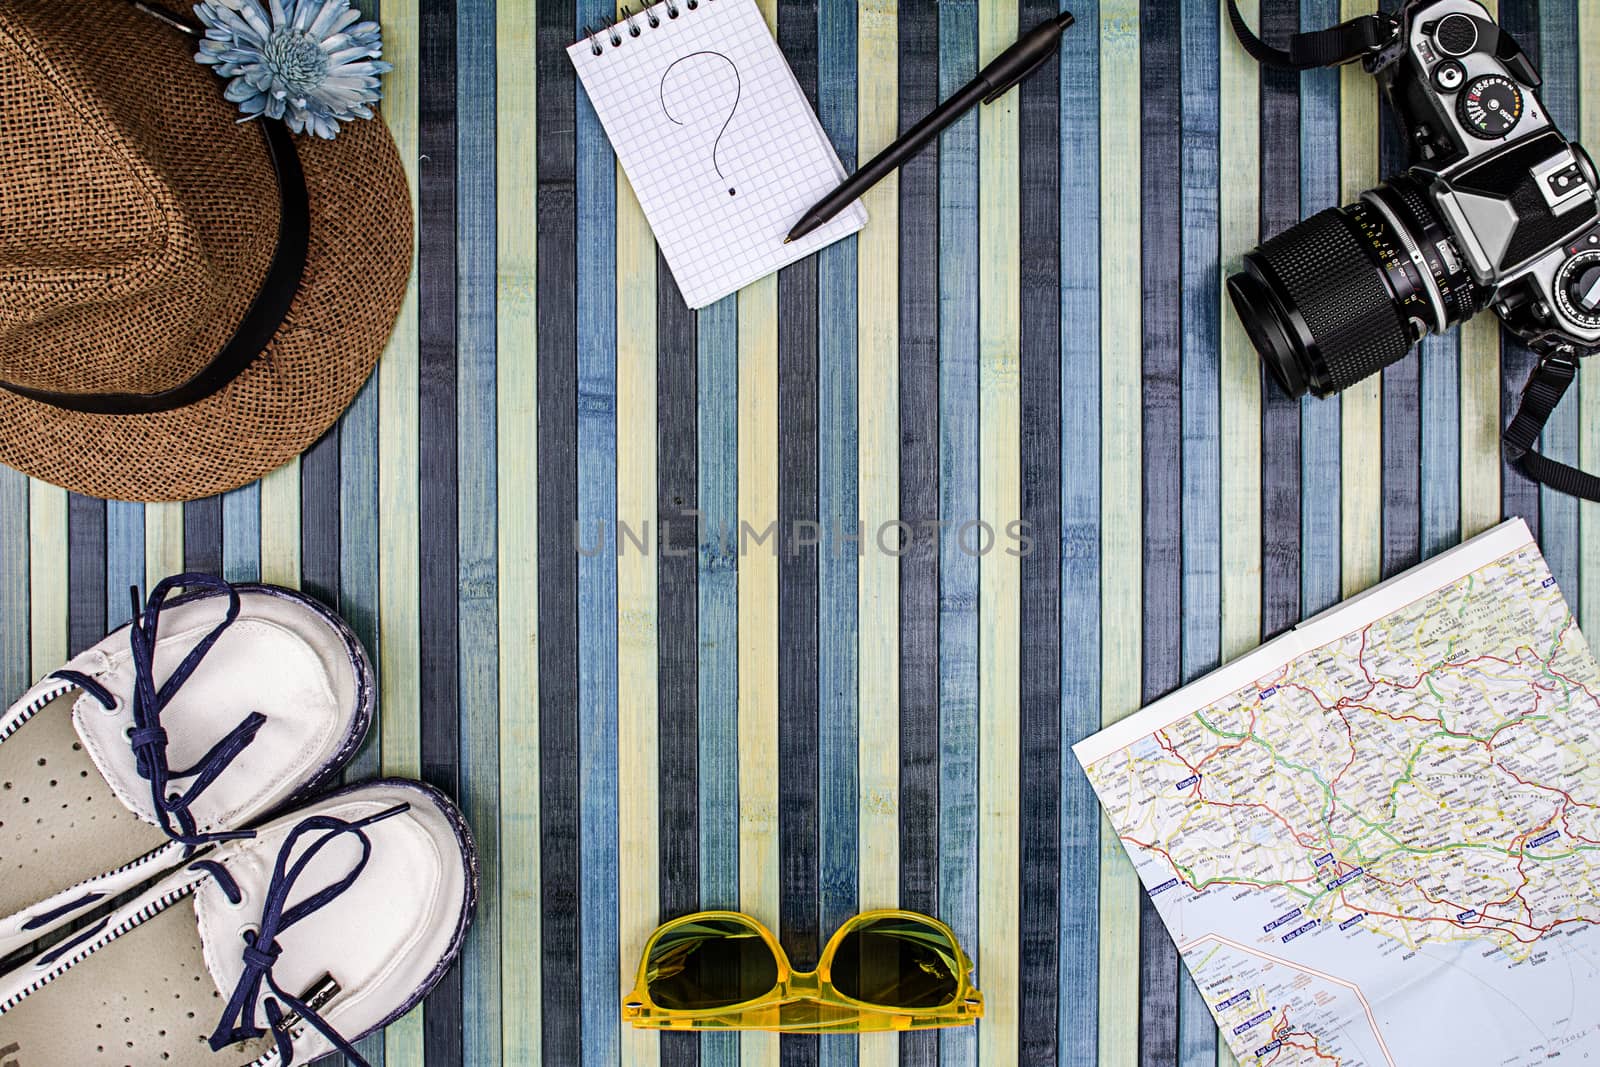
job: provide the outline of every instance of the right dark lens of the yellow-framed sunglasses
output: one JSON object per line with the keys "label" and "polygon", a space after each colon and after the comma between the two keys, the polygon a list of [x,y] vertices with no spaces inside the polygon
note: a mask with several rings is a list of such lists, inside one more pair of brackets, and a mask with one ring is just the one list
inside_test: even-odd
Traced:
{"label": "right dark lens of the yellow-framed sunglasses", "polygon": [[838,942],[834,989],[885,1008],[938,1008],[960,992],[960,950],[938,926],[877,918]]}

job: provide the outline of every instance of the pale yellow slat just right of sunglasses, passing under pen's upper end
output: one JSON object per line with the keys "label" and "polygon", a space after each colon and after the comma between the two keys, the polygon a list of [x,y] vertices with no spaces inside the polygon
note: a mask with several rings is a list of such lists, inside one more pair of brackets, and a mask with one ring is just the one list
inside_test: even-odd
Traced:
{"label": "pale yellow slat just right of sunglasses, passing under pen's upper end", "polygon": [[[978,62],[1016,40],[1016,0],[978,8]],[[979,1062],[1018,1062],[1021,901],[1022,565],[1005,531],[1022,515],[1021,206],[1018,94],[978,112],[978,510],[994,544],[978,563],[978,945],[986,1014]],[[862,705],[866,707],[866,705]],[[1126,862],[1126,861],[1123,861]]]}

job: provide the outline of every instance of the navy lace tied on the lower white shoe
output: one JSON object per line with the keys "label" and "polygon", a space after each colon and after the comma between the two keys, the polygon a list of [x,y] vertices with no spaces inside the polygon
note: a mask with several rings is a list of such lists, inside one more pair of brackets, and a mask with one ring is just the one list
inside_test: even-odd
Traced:
{"label": "navy lace tied on the lower white shoe", "polygon": [[[272,966],[283,953],[283,947],[278,945],[277,941],[278,934],[294,926],[294,923],[317,913],[331,904],[341,893],[355,885],[355,880],[362,875],[362,870],[366,867],[366,861],[371,859],[373,854],[373,841],[366,837],[366,827],[410,809],[411,805],[400,803],[355,822],[347,822],[334,816],[312,816],[310,819],[301,821],[293,830],[290,830],[288,838],[283,841],[283,848],[278,849],[278,859],[272,867],[272,881],[267,883],[267,897],[261,907],[261,925],[254,929],[245,931],[245,969],[238,976],[238,984],[234,987],[234,995],[229,998],[227,1008],[222,1009],[222,1019],[218,1022],[216,1032],[211,1035],[213,1051],[221,1051],[235,1041],[254,1040],[270,1032],[272,1040],[277,1043],[280,1067],[290,1067],[290,1064],[294,1062],[294,1043],[290,1024],[298,1017],[328,1038],[328,1043],[342,1053],[350,1064],[355,1064],[355,1067],[370,1067],[366,1061],[362,1059],[360,1053],[355,1051],[355,1046],[346,1041],[338,1030],[328,1025],[328,1022],[318,1016],[317,1011],[306,1003],[306,1000],[283,992],[272,976]],[[294,846],[299,840],[304,835],[315,833],[318,830],[322,830],[323,835],[312,841],[304,853],[294,859],[293,864],[290,864],[290,859],[294,854]],[[294,907],[286,907],[290,889],[294,888],[294,881],[306,872],[312,859],[317,857],[317,853],[346,833],[354,833],[362,843],[362,857],[357,861],[355,867],[352,867],[350,872],[338,881],[323,886]],[[198,862],[192,865],[206,870],[216,880],[227,899],[234,904],[243,899],[238,891],[238,883],[234,881],[232,875],[229,875],[221,864]],[[267,1016],[266,1030],[256,1025],[256,1001],[261,1000],[262,984],[266,984],[270,990],[270,995],[262,1001],[262,1008]],[[285,1008],[288,1013],[285,1013]]]}

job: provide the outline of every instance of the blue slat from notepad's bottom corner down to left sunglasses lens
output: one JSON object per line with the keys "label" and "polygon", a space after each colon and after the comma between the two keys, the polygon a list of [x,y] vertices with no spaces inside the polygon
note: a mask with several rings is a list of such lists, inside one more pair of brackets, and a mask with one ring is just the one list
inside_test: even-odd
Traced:
{"label": "blue slat from notepad's bottom corner down to left sunglasses lens", "polygon": [[[739,304],[699,312],[701,907],[739,907]],[[702,1067],[734,1067],[738,1033],[701,1038]]]}

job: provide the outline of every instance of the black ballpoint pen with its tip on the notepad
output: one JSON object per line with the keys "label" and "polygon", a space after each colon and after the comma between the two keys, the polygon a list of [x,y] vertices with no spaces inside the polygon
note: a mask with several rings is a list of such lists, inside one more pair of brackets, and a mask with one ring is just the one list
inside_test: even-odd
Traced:
{"label": "black ballpoint pen with its tip on the notepad", "polygon": [[827,194],[816,205],[800,216],[795,227],[789,230],[784,243],[800,240],[816,227],[822,226],[846,206],[856,202],[872,186],[920,152],[939,131],[960,118],[978,101],[992,104],[1006,90],[1034,74],[1053,54],[1061,42],[1061,34],[1072,26],[1072,13],[1062,11],[1053,19],[1046,19],[1016,38],[1016,43],[995,56],[995,61],[978,72],[978,77],[963,85],[947,101],[928,112],[922,122],[901,134],[890,147],[883,149],[866,166],[846,178],[838,189]]}

